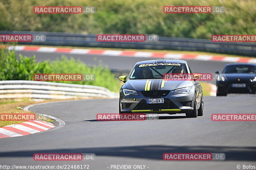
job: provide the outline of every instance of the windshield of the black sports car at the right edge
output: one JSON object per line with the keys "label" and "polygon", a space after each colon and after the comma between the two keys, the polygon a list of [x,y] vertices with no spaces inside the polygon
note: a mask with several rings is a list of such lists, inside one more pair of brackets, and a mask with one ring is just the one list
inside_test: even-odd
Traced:
{"label": "windshield of the black sports car at the right edge", "polygon": [[256,67],[252,65],[230,65],[224,68],[223,73],[256,73]]}

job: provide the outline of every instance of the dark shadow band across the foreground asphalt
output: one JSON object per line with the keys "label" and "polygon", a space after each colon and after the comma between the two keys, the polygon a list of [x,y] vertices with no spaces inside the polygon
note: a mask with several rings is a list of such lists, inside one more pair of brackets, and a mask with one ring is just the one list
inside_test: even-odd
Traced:
{"label": "dark shadow band across the foreground asphalt", "polygon": [[33,157],[34,153],[95,153],[97,156],[163,160],[164,153],[225,153],[225,161],[256,161],[256,147],[141,145],[0,152],[0,157]]}

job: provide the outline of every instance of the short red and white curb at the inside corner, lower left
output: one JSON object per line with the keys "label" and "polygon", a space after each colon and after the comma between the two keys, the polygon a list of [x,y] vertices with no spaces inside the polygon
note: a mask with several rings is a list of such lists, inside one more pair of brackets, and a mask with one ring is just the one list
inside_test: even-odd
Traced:
{"label": "short red and white curb at the inside corner, lower left", "polygon": [[28,120],[26,122],[12,124],[0,128],[0,138],[18,137],[43,132],[54,128],[52,123],[40,120]]}

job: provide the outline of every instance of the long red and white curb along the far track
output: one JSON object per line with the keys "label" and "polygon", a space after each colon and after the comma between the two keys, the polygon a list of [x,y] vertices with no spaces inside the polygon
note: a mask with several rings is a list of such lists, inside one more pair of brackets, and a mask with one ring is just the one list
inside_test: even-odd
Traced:
{"label": "long red and white curb along the far track", "polygon": [[9,50],[16,51],[35,51],[42,53],[67,53],[67,54],[91,54],[91,55],[111,55],[111,56],[130,56],[145,58],[163,58],[179,60],[201,60],[201,61],[221,61],[232,63],[256,63],[256,58],[225,57],[215,55],[196,55],[196,54],[173,54],[173,53],[149,53],[138,51],[115,51],[115,50],[95,50],[78,48],[53,48],[53,47],[35,47],[35,46],[9,46]]}

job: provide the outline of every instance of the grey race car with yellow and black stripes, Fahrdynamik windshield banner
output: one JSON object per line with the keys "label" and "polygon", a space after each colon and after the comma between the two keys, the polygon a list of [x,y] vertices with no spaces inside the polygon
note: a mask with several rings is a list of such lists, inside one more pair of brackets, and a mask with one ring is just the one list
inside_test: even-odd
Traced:
{"label": "grey race car with yellow and black stripes, Fahrdynamik windshield banner", "polygon": [[[164,75],[193,75],[192,79],[165,79]],[[148,60],[136,63],[120,89],[119,113],[204,114],[202,86],[184,60]]]}

